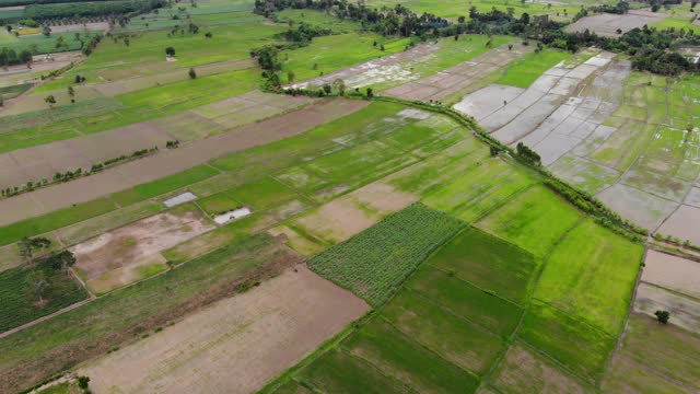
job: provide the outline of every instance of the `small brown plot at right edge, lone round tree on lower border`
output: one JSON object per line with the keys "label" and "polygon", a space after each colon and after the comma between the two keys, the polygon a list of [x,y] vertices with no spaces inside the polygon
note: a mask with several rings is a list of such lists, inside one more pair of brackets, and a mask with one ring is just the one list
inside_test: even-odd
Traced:
{"label": "small brown plot at right edge, lone round tree on lower border", "polygon": [[637,288],[634,312],[655,317],[654,312],[658,310],[670,312],[669,324],[700,334],[700,301],[641,282]]}

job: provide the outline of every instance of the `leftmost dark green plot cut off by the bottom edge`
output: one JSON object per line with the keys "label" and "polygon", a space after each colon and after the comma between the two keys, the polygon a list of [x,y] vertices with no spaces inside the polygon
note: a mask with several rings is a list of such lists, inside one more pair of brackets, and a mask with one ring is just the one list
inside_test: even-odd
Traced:
{"label": "leftmost dark green plot cut off by the bottom edge", "polygon": [[[328,351],[306,367],[299,380],[326,393],[405,393],[407,389],[361,357],[340,349]],[[278,389],[275,393],[281,392],[284,391]]]}

